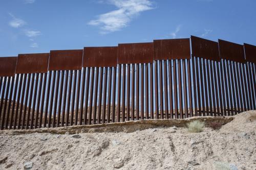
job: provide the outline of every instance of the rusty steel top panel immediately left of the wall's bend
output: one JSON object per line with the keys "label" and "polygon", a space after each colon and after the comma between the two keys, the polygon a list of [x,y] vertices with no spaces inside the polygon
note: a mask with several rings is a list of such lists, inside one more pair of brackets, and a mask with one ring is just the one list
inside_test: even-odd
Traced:
{"label": "rusty steel top panel immediately left of the wall's bend", "polygon": [[154,60],[189,59],[190,40],[161,39],[154,40]]}

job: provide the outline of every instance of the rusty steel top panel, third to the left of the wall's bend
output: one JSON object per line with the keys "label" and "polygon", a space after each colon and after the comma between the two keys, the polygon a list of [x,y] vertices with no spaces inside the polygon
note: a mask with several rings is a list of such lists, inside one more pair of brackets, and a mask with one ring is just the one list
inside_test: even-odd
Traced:
{"label": "rusty steel top panel, third to the left of the wall's bend", "polygon": [[117,66],[117,46],[84,47],[83,67]]}

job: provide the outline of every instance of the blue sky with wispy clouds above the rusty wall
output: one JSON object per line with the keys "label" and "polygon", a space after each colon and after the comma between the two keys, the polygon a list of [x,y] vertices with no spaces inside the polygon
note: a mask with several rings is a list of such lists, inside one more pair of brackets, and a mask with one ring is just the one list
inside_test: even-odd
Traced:
{"label": "blue sky with wispy clouds above the rusty wall", "polygon": [[188,38],[256,45],[255,0],[1,0],[0,56]]}

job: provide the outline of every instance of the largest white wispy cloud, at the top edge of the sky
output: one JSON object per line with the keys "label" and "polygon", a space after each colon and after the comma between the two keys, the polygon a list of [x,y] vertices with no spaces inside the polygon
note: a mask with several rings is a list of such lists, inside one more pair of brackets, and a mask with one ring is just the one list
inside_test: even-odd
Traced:
{"label": "largest white wispy cloud, at the top edge of the sky", "polygon": [[118,9],[101,14],[88,22],[91,26],[99,26],[101,34],[118,31],[127,27],[128,23],[140,12],[153,9],[150,0],[109,0]]}

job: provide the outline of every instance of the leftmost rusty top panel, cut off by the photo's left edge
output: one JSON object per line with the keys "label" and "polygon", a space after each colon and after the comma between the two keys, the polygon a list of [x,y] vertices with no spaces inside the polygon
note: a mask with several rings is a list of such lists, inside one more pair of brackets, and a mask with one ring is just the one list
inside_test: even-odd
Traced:
{"label": "leftmost rusty top panel, cut off by the photo's left edge", "polygon": [[15,76],[17,57],[0,57],[0,77]]}

